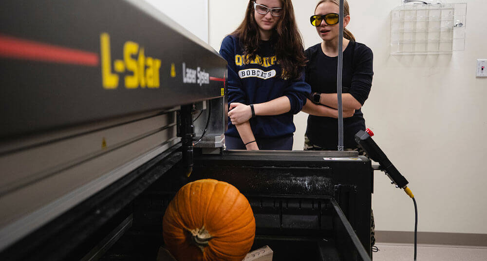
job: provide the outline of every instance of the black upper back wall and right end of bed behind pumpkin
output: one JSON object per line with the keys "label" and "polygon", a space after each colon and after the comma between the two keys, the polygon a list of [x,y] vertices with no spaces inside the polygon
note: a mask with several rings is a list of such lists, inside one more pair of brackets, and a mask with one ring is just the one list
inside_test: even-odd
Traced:
{"label": "black upper back wall and right end of bed behind pumpkin", "polygon": [[244,194],[332,196],[371,254],[371,162],[363,156],[355,161],[324,160],[347,155],[353,153],[225,151],[221,156],[196,155],[190,180],[214,178],[237,186]]}

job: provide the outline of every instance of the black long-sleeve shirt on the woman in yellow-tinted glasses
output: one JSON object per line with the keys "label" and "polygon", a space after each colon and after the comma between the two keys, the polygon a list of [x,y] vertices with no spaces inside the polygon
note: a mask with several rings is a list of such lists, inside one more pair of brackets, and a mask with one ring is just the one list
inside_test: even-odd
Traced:
{"label": "black long-sleeve shirt on the woman in yellow-tinted glasses", "polygon": [[[312,92],[337,93],[338,57],[326,56],[318,43],[305,51],[308,64],[305,81]],[[342,92],[350,93],[360,104],[364,104],[372,86],[372,50],[362,43],[350,41],[343,52]],[[356,148],[355,134],[365,130],[365,119],[361,110],[350,118],[343,119],[343,143],[345,148]],[[324,149],[336,150],[338,146],[338,120],[331,117],[309,115],[306,136],[311,143]]]}

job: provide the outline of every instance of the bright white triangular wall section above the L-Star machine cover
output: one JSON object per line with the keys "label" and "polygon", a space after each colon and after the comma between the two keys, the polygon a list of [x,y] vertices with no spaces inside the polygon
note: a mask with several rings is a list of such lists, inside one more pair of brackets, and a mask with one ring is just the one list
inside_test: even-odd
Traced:
{"label": "bright white triangular wall section above the L-Star machine cover", "polygon": [[208,43],[208,0],[145,0]]}

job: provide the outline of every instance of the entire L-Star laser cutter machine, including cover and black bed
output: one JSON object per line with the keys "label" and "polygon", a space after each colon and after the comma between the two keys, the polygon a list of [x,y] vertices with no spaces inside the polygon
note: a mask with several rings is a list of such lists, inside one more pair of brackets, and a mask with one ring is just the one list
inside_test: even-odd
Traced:
{"label": "entire L-Star laser cutter machine, including cover and black bed", "polygon": [[371,259],[370,160],[224,150],[226,61],[148,4],[6,1],[0,24],[1,260],[154,260],[201,178],[244,193],[274,260]]}

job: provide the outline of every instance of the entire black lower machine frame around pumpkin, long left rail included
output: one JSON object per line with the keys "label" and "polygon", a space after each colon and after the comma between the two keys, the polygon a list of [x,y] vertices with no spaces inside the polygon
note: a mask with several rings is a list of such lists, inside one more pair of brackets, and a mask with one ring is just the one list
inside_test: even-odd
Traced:
{"label": "entire black lower machine frame around pumpkin, long left rail included", "polygon": [[[369,249],[363,248],[370,244],[370,212],[366,210],[370,210],[372,170],[366,158],[323,160],[323,156],[337,155],[336,151],[231,151],[196,155],[193,173],[187,178],[181,148],[174,146],[132,171],[7,248],[0,259],[83,258],[131,215],[133,227],[102,260],[127,249],[131,253],[122,254],[125,260],[151,258],[163,243],[162,216],[174,193],[192,180],[215,178],[237,186],[249,199],[257,220],[254,248],[273,243],[279,256],[291,244],[312,260],[370,260]],[[277,208],[275,202],[279,202]]]}

